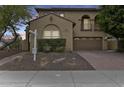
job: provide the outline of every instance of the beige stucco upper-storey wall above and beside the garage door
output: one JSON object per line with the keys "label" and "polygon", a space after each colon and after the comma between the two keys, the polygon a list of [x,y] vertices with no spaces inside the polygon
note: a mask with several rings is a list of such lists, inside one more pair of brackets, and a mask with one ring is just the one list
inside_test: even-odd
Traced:
{"label": "beige stucco upper-storey wall above and beside the garage door", "polygon": [[[106,34],[102,31],[95,31],[95,17],[98,14],[98,11],[41,11],[39,12],[39,16],[43,16],[45,13],[56,12],[56,14],[63,13],[64,17],[72,20],[76,23],[74,27],[74,35],[73,37],[102,37],[103,50],[108,49],[107,41],[104,39]],[[90,17],[92,30],[91,31],[81,31],[81,18],[84,15],[88,15]]]}

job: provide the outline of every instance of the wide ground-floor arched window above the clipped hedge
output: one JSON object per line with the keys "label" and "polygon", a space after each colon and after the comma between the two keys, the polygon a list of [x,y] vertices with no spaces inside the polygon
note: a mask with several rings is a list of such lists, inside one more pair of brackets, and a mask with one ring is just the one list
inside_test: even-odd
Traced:
{"label": "wide ground-floor arched window above the clipped hedge", "polygon": [[48,25],[43,31],[44,39],[60,38],[60,31],[55,25]]}

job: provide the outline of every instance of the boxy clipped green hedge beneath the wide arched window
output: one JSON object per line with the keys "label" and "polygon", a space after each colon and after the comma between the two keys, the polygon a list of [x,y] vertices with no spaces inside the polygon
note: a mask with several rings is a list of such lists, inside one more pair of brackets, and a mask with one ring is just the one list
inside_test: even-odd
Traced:
{"label": "boxy clipped green hedge beneath the wide arched window", "polygon": [[63,52],[65,39],[38,39],[38,51],[40,52]]}

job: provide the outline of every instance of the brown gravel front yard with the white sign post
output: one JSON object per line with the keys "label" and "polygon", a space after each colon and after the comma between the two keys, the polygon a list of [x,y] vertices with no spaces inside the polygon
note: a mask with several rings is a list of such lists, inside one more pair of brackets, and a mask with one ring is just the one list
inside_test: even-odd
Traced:
{"label": "brown gravel front yard with the white sign post", "polygon": [[38,53],[33,61],[31,53],[16,56],[12,62],[0,66],[0,70],[95,70],[77,53]]}

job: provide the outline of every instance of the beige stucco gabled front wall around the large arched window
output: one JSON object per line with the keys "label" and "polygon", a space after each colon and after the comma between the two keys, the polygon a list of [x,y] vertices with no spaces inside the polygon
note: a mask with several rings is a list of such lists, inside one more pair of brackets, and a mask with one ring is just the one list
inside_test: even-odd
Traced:
{"label": "beige stucco gabled front wall around the large arched window", "polygon": [[[54,14],[50,14],[48,16],[45,16],[43,18],[40,18],[38,20],[30,22],[30,30],[34,31],[37,29],[38,35],[37,38],[41,39],[43,37],[43,31],[45,27],[50,26],[52,29],[52,25],[56,26],[59,31],[61,38],[66,39],[66,51],[72,51],[73,50],[73,25],[72,22],[64,20]],[[33,48],[33,36],[30,35],[30,49]]]}

